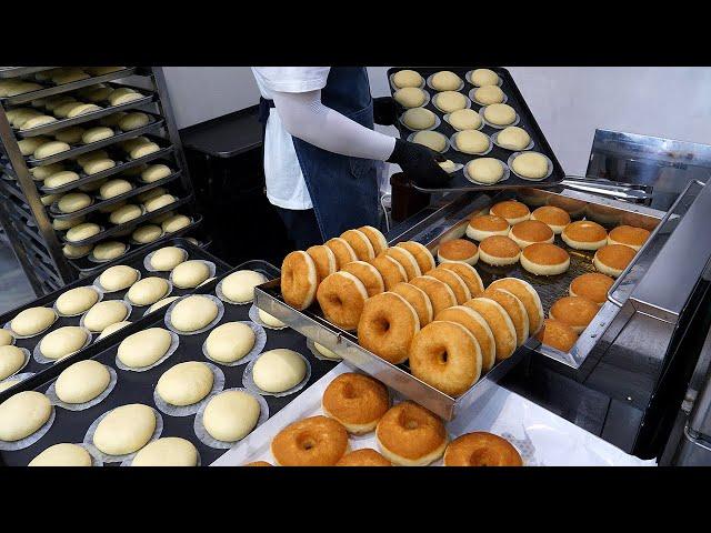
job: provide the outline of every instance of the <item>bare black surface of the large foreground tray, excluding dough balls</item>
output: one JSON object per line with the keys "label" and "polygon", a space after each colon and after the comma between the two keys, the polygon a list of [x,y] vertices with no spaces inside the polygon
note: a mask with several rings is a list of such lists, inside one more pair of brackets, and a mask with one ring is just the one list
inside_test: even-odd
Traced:
{"label": "bare black surface of the large foreground tray, excluding dough balls", "polygon": [[[233,270],[240,269],[261,271],[269,278],[279,276],[279,270],[264,261],[248,261],[240,264]],[[209,285],[200,288],[196,292],[214,294],[216,285],[217,280]],[[220,323],[250,320],[248,315],[249,309],[250,304],[224,304],[224,316],[222,318]],[[117,385],[106,400],[84,411],[72,412],[66,411],[61,408],[54,408],[57,418],[46,435],[43,435],[38,442],[24,450],[19,450],[16,452],[0,452],[0,461],[6,465],[27,465],[42,450],[53,444],[60,442],[81,443],[91,423],[101,414],[117,406],[128,403],[143,403],[154,408],[156,405],[153,403],[153,390],[156,389],[158,379],[162,375],[163,372],[180,362],[206,361],[216,364],[224,373],[224,389],[236,386],[241,388],[242,373],[244,372],[247,364],[242,364],[239,366],[218,365],[217,363],[209,361],[203,356],[202,343],[209,335],[209,331],[198,335],[180,335],[180,345],[176,353],[168,358],[168,360],[166,360],[163,363],[146,372],[129,372],[116,368],[116,352],[120,341],[129,334],[147,328],[166,328],[163,320],[167,310],[168,308],[163,308],[162,310],[151,314],[150,320],[144,320],[140,323],[131,324],[130,326],[120,330],[120,334],[117,333],[116,335],[112,335],[110,338],[110,343],[102,341],[102,343],[99,343],[96,346],[89,348],[82,352],[82,360],[94,359],[103,364],[108,364],[114,368],[114,370],[117,371]],[[269,405],[269,415],[271,418],[287,404],[297,400],[299,398],[299,394],[304,392],[310,385],[316,383],[327,372],[332,370],[333,366],[339,363],[339,361],[323,361],[313,356],[311,351],[307,348],[306,338],[290,328],[284,330],[267,329],[266,331],[267,345],[264,346],[264,351],[273,350],[277,348],[288,348],[304,355],[311,364],[311,376],[309,379],[309,382],[299,392],[282,398],[263,396],[267,401],[267,404]],[[41,375],[33,376],[30,380],[16,385],[11,389],[11,391],[12,393],[19,392],[21,390],[37,390],[38,392],[44,392],[49,388],[50,383],[59,375],[59,373],[61,373],[61,371],[66,366],[76,362],[77,360],[78,359],[74,359],[71,362],[62,361],[60,363],[57,363],[50,371],[46,371]],[[4,401],[10,395],[11,393],[9,391],[0,393],[0,402]],[[181,436],[192,442],[200,453],[200,461],[203,466],[209,465],[224,452],[227,452],[227,450],[216,450],[213,447],[209,447],[196,436],[193,431],[194,415],[170,416],[166,413],[161,413],[161,416],[163,419],[163,432],[161,436]],[[118,464],[119,463],[110,463],[110,465]]]}

